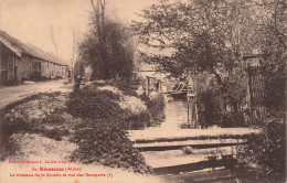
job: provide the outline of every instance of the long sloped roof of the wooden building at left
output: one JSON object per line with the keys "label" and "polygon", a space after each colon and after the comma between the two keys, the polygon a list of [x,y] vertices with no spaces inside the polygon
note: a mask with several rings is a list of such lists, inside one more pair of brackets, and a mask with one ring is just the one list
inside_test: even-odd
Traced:
{"label": "long sloped roof of the wooden building at left", "polygon": [[[12,47],[15,47],[17,51],[21,52],[21,54],[24,53],[26,55],[30,55],[30,56],[33,56],[33,57],[36,57],[36,58],[40,58],[43,61],[52,62],[52,63],[55,63],[59,65],[67,65],[67,64],[63,63],[61,61],[61,58],[59,58],[54,54],[45,53],[42,49],[36,47],[30,43],[24,44],[21,41],[10,36],[8,33],[6,33],[4,31],[1,31],[1,30],[0,30],[0,37],[4,39],[4,40],[0,40],[0,41],[9,42],[9,45],[11,45]],[[12,49],[12,51],[17,52],[13,49]],[[15,53],[15,54],[21,57],[21,55],[19,55],[19,53]]]}

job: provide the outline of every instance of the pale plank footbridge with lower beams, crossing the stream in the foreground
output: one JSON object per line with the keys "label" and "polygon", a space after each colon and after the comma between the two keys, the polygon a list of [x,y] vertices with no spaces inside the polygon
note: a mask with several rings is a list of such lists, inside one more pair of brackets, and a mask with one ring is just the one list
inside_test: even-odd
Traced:
{"label": "pale plank footbridge with lower beams, crossing the stream in the foreground", "polygon": [[236,182],[236,154],[252,128],[130,130],[129,139],[153,174],[168,182]]}

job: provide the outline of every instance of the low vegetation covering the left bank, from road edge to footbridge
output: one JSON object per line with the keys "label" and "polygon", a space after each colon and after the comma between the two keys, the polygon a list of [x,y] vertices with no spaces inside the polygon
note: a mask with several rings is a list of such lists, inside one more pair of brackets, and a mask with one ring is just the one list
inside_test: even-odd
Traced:
{"label": "low vegetation covering the left bank, from road edge to footbridge", "polygon": [[[47,109],[54,109],[50,115],[28,119],[25,114],[28,111],[23,111],[21,118],[14,117],[18,115],[18,110],[22,109],[19,105],[30,104],[32,106],[34,103],[31,101],[34,100],[40,100],[42,104],[43,97]],[[63,140],[64,136],[72,137],[71,140],[79,147],[72,152],[71,159],[73,160],[78,160],[83,163],[98,162],[104,165],[128,169],[138,173],[151,171],[146,165],[142,155],[127,138],[127,129],[141,127],[142,121],[149,120],[148,114],[134,115],[128,110],[121,109],[117,104],[119,101],[118,95],[107,90],[96,90],[94,85],[70,95],[66,110],[78,118],[73,118],[66,114],[65,108],[57,108],[62,106],[59,105],[62,100],[59,100],[57,97],[60,97],[59,93],[40,94],[6,108],[4,111],[11,112],[11,115],[2,121],[6,136],[1,140],[6,140],[6,143],[1,143],[3,152],[0,159],[11,155],[18,148],[8,141],[12,133],[39,133],[59,141]],[[51,103],[55,103],[57,106],[55,107]],[[30,108],[41,108],[41,105],[31,106]]]}

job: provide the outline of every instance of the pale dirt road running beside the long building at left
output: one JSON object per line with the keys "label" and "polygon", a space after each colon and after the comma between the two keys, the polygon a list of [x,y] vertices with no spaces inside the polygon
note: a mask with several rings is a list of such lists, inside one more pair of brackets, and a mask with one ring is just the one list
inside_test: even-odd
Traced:
{"label": "pale dirt road running beside the long building at left", "polygon": [[71,92],[72,86],[64,84],[65,79],[49,82],[28,82],[18,86],[0,87],[0,110],[7,105],[38,93]]}

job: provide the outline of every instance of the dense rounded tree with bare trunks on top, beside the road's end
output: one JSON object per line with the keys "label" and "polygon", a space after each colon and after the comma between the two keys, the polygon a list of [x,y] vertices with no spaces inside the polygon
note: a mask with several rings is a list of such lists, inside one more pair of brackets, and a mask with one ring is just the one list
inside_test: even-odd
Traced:
{"label": "dense rounded tree with bare trunks on top, beside the road's end", "polygon": [[81,60],[93,67],[93,77],[125,76],[132,71],[134,43],[128,29],[117,20],[106,18],[105,1],[92,0],[94,13],[91,30],[79,44]]}

